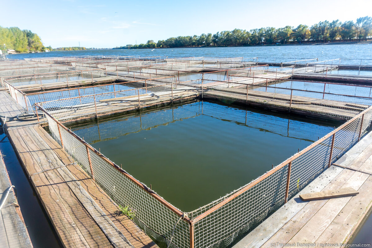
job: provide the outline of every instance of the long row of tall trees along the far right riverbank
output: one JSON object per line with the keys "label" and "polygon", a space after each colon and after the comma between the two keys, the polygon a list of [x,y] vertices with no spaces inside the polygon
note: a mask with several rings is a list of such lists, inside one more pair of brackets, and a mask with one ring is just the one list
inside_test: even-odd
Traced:
{"label": "long row of tall trees along the far right riverbank", "polygon": [[232,31],[202,34],[200,36],[178,36],[165,41],[153,40],[146,44],[126,45],[113,49],[136,48],[176,48],[197,46],[246,46],[246,45],[272,45],[288,43],[318,43],[331,41],[362,41],[372,35],[372,17],[360,17],[353,21],[341,23],[339,20],[319,22],[311,27],[307,25],[285,26],[284,28],[260,28],[249,31],[234,29]]}

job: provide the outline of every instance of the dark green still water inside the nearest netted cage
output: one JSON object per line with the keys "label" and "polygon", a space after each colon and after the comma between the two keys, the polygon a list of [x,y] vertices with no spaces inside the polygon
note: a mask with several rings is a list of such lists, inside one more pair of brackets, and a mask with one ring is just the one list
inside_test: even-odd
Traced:
{"label": "dark green still water inside the nearest netted cage", "polygon": [[191,211],[259,177],[334,125],[194,102],[72,130],[164,199]]}

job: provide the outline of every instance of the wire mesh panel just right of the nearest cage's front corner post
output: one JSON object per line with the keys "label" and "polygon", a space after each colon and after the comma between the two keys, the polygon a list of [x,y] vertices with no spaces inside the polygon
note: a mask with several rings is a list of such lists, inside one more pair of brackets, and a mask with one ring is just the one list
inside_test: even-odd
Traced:
{"label": "wire mesh panel just right of the nearest cage's front corner post", "polygon": [[[263,175],[263,180],[258,178],[256,181],[259,182],[250,189],[198,220],[194,224],[195,247],[227,247],[244,233],[256,228],[284,203],[287,170],[288,165],[285,165],[267,177]],[[224,199],[232,196],[234,194]],[[195,210],[195,213],[205,210]]]}

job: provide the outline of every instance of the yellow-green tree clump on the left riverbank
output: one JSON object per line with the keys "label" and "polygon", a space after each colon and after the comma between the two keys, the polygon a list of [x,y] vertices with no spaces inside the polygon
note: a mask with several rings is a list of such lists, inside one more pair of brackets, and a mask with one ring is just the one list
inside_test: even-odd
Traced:
{"label": "yellow-green tree clump on the left riverbank", "polygon": [[[5,44],[5,47],[4,45]],[[16,52],[43,52],[45,48],[40,37],[30,30],[3,28],[0,26],[0,48],[14,49]]]}

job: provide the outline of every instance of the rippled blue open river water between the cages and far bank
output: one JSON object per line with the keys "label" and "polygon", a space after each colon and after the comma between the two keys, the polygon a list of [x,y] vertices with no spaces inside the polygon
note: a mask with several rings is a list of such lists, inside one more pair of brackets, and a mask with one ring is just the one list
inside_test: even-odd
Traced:
{"label": "rippled blue open river water between the cages and far bank", "polygon": [[[105,49],[88,51],[59,51],[35,54],[16,54],[10,58],[62,57],[89,55],[121,56],[169,56],[169,57],[284,57],[284,58],[318,58],[319,60],[351,58],[372,59],[372,44],[343,45],[289,45],[289,46],[247,46],[247,47],[213,47],[213,48],[157,48],[152,49]],[[350,61],[359,64],[360,60]],[[366,62],[366,61],[365,61]],[[363,62],[364,63],[364,62]],[[369,62],[372,64],[372,61]]]}

